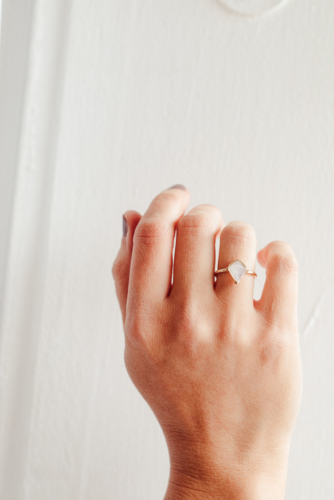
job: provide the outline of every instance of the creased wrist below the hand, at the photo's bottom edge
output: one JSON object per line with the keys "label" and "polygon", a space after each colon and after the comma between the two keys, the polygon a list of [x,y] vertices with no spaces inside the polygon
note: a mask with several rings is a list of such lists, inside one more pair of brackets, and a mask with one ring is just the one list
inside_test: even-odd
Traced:
{"label": "creased wrist below the hand, at the photo's bottom edge", "polygon": [[[164,500],[283,500],[288,448],[263,453],[253,449],[245,457],[219,453],[214,446],[182,446],[171,453],[171,469]],[[254,458],[255,457],[255,458]]]}

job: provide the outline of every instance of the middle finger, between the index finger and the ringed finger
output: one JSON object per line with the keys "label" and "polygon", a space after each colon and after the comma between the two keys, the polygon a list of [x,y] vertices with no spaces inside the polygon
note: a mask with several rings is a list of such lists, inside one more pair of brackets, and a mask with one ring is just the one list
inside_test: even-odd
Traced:
{"label": "middle finger, between the index finger and the ringed finger", "polygon": [[223,225],[222,213],[213,205],[195,206],[179,220],[171,295],[213,291],[215,241]]}

